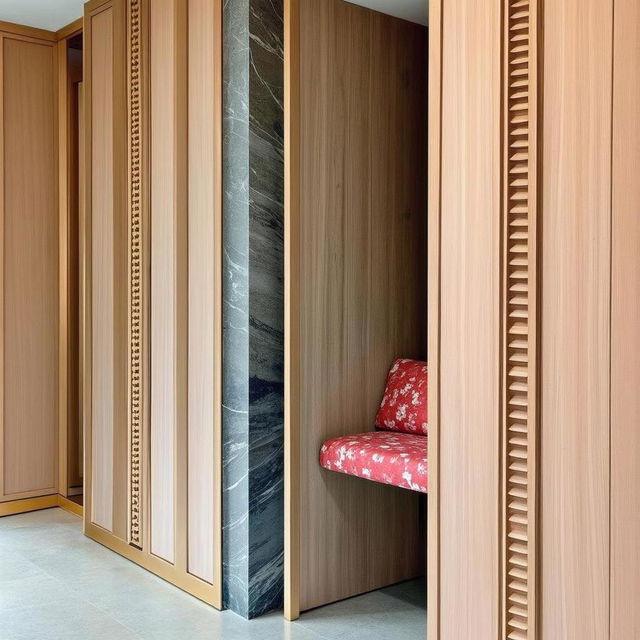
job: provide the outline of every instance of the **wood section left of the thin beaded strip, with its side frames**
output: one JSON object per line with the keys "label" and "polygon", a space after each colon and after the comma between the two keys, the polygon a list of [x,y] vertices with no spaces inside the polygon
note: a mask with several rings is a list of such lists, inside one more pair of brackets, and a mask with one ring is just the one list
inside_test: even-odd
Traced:
{"label": "wood section left of the thin beaded strip, with its side frames", "polygon": [[88,522],[120,538],[126,538],[128,439],[124,20],[122,1],[86,7],[85,505]]}

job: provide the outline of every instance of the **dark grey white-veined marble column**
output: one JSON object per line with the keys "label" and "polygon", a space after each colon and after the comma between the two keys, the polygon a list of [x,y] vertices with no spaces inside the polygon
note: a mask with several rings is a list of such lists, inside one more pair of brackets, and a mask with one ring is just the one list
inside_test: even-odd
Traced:
{"label": "dark grey white-veined marble column", "polygon": [[224,2],[223,591],[252,618],[283,597],[282,0]]}

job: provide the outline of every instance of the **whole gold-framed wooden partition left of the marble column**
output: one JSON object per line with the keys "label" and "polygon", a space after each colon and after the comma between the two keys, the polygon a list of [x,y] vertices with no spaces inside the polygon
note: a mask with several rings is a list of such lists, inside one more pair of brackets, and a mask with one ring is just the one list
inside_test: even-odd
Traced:
{"label": "whole gold-framed wooden partition left of the marble column", "polygon": [[221,4],[86,7],[85,530],[221,606]]}

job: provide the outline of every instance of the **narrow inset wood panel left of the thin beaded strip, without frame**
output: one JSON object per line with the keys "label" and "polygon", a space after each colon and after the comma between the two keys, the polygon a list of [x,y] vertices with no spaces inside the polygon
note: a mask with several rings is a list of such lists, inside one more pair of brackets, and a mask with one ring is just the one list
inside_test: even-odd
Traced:
{"label": "narrow inset wood panel left of the thin beaded strip, without frame", "polygon": [[111,531],[114,491],[113,9],[91,18],[92,522]]}

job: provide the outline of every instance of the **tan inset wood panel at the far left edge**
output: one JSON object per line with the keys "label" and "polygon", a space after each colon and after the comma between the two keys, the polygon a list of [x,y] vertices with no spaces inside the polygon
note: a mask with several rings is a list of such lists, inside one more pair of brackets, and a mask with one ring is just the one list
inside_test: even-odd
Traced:
{"label": "tan inset wood panel at the far left edge", "polygon": [[3,44],[4,493],[55,490],[58,208],[55,48]]}

